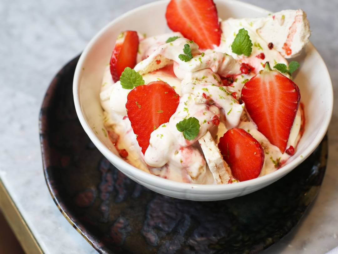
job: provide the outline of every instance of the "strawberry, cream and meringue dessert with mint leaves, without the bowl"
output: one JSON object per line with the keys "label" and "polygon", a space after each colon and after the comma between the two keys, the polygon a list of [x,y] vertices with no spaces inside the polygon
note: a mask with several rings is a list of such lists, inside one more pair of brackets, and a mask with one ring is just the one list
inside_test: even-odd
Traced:
{"label": "strawberry, cream and meringue dessert with mint leaves, without the bowl", "polygon": [[269,174],[304,131],[292,81],[310,36],[303,10],[220,20],[212,0],[171,0],[172,33],[123,31],[103,73],[104,133],[131,165],[195,184]]}

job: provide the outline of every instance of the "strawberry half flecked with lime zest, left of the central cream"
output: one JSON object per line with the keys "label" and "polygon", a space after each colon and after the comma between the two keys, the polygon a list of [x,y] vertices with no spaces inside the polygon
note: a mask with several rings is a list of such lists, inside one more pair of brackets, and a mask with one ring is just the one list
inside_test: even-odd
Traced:
{"label": "strawberry half flecked with lime zest, left of the central cream", "polygon": [[149,146],[150,134],[169,122],[179,103],[175,90],[163,81],[137,86],[127,96],[126,108],[142,152]]}

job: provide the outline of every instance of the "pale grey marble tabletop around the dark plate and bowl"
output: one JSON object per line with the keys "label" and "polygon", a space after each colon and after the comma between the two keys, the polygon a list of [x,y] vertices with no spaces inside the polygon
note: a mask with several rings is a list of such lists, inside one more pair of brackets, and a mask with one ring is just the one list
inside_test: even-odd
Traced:
{"label": "pale grey marble tabletop around the dark plate and bowl", "polygon": [[[45,253],[96,253],[58,211],[42,171],[38,115],[54,74],[96,32],[150,0],[0,1],[0,177]],[[338,1],[247,0],[271,11],[304,9],[311,41],[337,99]],[[325,253],[338,245],[338,106],[320,193],[299,225],[264,253]]]}

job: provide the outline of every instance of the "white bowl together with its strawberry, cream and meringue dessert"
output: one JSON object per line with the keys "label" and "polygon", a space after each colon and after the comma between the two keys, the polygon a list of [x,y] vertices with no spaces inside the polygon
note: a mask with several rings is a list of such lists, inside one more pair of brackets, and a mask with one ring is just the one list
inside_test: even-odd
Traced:
{"label": "white bowl together with its strawberry, cream and meringue dessert", "polygon": [[[290,172],[322,140],[330,77],[307,43],[303,11],[202,1],[210,5],[194,13],[216,16],[189,33],[172,15],[186,2],[141,6],[103,28],[75,71],[76,111],[102,154],[147,188],[193,200],[244,195]],[[295,71],[298,62],[285,58],[300,53]]]}

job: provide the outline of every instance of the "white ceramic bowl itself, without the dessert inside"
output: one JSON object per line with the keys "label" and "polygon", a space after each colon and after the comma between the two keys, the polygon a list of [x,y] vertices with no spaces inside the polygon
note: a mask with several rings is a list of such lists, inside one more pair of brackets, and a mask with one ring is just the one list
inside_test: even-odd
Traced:
{"label": "white ceramic bowl itself, without the dessert inside", "polygon": [[[233,0],[216,0],[222,18],[261,17],[269,12],[262,8]],[[165,19],[168,1],[158,1],[138,7],[113,20],[89,42],[77,63],[73,93],[77,115],[83,129],[100,152],[125,175],[137,183],[164,195],[191,200],[221,200],[245,195],[277,181],[303,162],[323,139],[331,120],[333,90],[327,67],[309,43],[305,54],[298,57],[301,67],[295,83],[305,105],[306,126],[297,152],[279,170],[249,181],[227,185],[198,185],[170,181],[135,168],[122,160],[104,135],[99,92],[103,70],[110,60],[115,39],[120,31],[136,30],[147,36],[169,31]]]}

